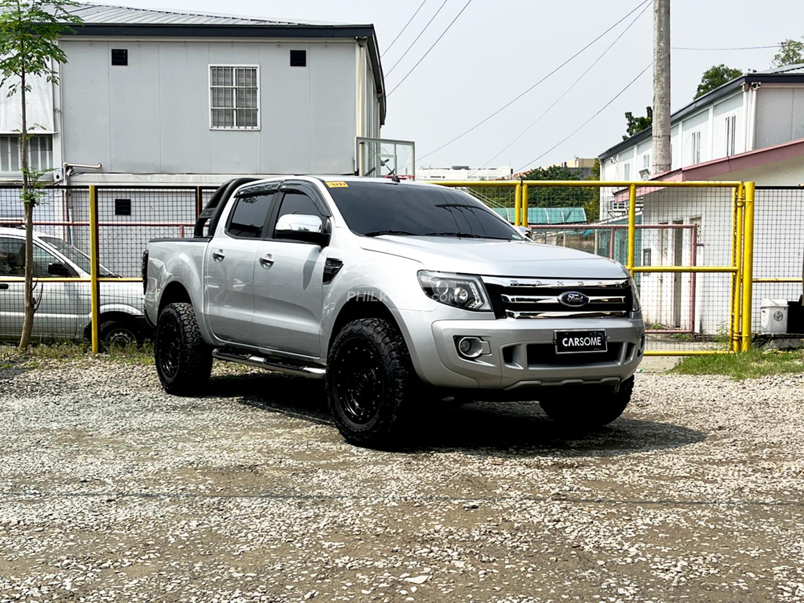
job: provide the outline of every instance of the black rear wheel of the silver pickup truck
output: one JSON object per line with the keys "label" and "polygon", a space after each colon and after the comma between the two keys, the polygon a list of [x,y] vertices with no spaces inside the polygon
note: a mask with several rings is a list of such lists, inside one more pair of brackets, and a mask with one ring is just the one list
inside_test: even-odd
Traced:
{"label": "black rear wheel of the silver pickup truck", "polygon": [[154,362],[162,388],[169,394],[192,396],[207,384],[212,352],[191,304],[168,304],[159,314]]}

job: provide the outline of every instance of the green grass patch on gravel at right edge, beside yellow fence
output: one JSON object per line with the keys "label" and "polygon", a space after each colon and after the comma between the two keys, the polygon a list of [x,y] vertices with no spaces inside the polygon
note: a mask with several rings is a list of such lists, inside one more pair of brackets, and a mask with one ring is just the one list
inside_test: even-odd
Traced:
{"label": "green grass patch on gravel at right edge, beside yellow fence", "polygon": [[671,369],[679,375],[726,375],[740,381],[765,375],[804,372],[804,351],[762,351],[751,348],[740,354],[690,356]]}

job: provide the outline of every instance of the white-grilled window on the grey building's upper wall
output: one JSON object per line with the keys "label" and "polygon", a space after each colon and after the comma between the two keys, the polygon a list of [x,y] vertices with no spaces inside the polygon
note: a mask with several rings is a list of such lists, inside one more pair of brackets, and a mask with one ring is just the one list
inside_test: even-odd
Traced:
{"label": "white-grilled window on the grey building's upper wall", "polygon": [[260,129],[260,68],[210,65],[211,129]]}

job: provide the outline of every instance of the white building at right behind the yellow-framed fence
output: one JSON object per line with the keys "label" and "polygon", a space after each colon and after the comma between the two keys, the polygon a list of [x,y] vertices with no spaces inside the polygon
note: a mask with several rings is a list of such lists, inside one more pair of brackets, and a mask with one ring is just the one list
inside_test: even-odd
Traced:
{"label": "white building at right behind the yellow-framed fence", "polygon": [[[650,176],[651,131],[601,154],[601,180],[757,183],[754,277],[802,276],[804,257],[804,65],[741,76],[671,117],[672,166]],[[638,191],[638,265],[731,265],[732,191],[651,187]],[[601,217],[622,215],[623,190],[601,191]],[[693,253],[695,254],[693,259]],[[728,325],[728,274],[643,273],[646,321],[698,334]],[[765,297],[797,301],[802,284],[754,285],[753,325]]]}

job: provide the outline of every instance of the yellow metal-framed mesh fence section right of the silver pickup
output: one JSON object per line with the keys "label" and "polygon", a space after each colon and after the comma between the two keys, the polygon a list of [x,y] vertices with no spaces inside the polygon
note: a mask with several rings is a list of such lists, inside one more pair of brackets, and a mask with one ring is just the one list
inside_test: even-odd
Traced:
{"label": "yellow metal-framed mesh fence section right of the silver pickup", "polygon": [[[605,219],[594,222],[585,221],[582,224],[567,224],[564,226],[564,240],[566,232],[580,232],[584,229],[595,232],[594,251],[598,252],[597,233],[608,229],[611,232],[611,245],[615,240],[617,228],[627,229],[627,253],[622,263],[637,279],[646,275],[671,275],[676,281],[680,275],[687,275],[688,285],[683,293],[689,298],[691,323],[685,329],[648,329],[649,334],[657,334],[658,347],[646,351],[646,355],[711,355],[732,354],[748,350],[751,345],[751,317],[752,317],[752,285],[753,279],[753,220],[754,220],[754,183],[737,181],[705,181],[705,182],[658,182],[658,181],[544,181],[544,180],[501,180],[501,181],[433,181],[446,187],[459,188],[469,192],[478,199],[496,208],[498,213],[507,213],[507,207],[513,205],[513,221],[518,226],[530,227],[533,232],[544,232],[544,240],[548,240],[548,232],[555,232],[556,224],[533,224],[528,219],[535,206],[544,209],[566,210],[566,207],[557,207],[560,204],[557,197],[568,197],[572,190],[597,190],[597,197],[604,207],[604,197],[609,195],[612,199],[621,199],[621,220],[625,224],[617,224],[616,216],[605,216]],[[496,192],[500,191],[500,192]],[[562,195],[551,193],[561,192]],[[695,191],[695,192],[693,192]],[[604,194],[601,194],[604,193]],[[675,194],[674,194],[675,193]],[[572,198],[572,195],[569,195]],[[589,203],[587,195],[586,203]],[[580,195],[572,198],[575,205],[580,206],[584,199]],[[648,203],[654,215],[663,215],[662,221],[646,223],[644,220],[650,215]],[[685,207],[679,210],[679,216],[685,219],[672,219],[667,207]],[[655,211],[661,208],[661,211]],[[729,211],[730,209],[730,211]],[[505,211],[503,211],[505,210]],[[547,214],[545,214],[547,215]],[[689,216],[694,216],[689,219]],[[669,217],[668,217],[669,216]],[[697,220],[697,223],[696,223]],[[690,223],[690,224],[687,224]],[[646,233],[654,231],[662,235],[671,231],[672,240],[678,242],[676,248],[681,246],[684,232],[687,238],[691,232],[691,250],[683,251],[678,257],[687,256],[687,262],[677,261],[672,264],[645,265],[638,261],[637,240],[638,232],[647,238]],[[696,240],[702,230],[708,234],[708,241]],[[662,235],[663,236],[663,235]],[[654,238],[662,238],[654,236]],[[670,237],[665,237],[670,238]],[[667,246],[667,243],[666,243]],[[720,246],[720,247],[719,247]],[[728,246],[728,249],[727,249]],[[613,248],[609,247],[611,257],[615,257]],[[650,253],[650,244],[644,244],[643,254]],[[701,254],[721,259],[716,264],[700,265],[695,263]],[[650,257],[650,255],[646,255]],[[644,260],[645,258],[641,258]],[[691,261],[689,261],[691,260]],[[679,275],[678,277],[675,275]],[[719,275],[719,276],[716,276]],[[728,278],[728,291],[724,285],[724,294],[705,297],[700,293],[698,281],[705,278]],[[680,281],[679,281],[680,282]],[[642,285],[646,285],[642,281]],[[698,286],[698,299],[695,299],[695,288]],[[714,291],[717,284],[708,283],[709,290]],[[646,299],[646,286],[642,289],[642,306],[650,306],[654,300]],[[655,289],[655,288],[654,288]],[[680,289],[679,289],[680,290]],[[661,292],[660,292],[661,293]],[[650,296],[650,293],[647,293]],[[680,297],[680,293],[676,293]],[[695,306],[720,305],[721,314],[728,319],[723,321],[718,330],[722,330],[720,338],[712,334],[701,334],[703,329],[695,328]],[[712,314],[711,308],[704,310]],[[699,312],[702,314],[702,312]],[[712,330],[712,327],[710,327]],[[674,340],[672,345],[662,347],[662,334],[664,341],[669,337],[686,337],[688,342],[681,346]],[[675,347],[674,347],[675,346]]]}

